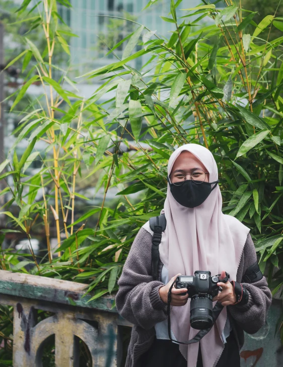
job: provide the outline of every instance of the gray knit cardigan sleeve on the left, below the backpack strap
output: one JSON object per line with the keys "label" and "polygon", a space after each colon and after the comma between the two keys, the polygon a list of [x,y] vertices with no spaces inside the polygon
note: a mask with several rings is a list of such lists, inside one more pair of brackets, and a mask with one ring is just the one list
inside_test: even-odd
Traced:
{"label": "gray knit cardigan sleeve on the left, below the backpack strap", "polygon": [[151,329],[167,318],[167,305],[159,295],[164,283],[154,281],[151,275],[151,248],[152,235],[140,228],[118,280],[116,295],[119,314],[144,329]]}

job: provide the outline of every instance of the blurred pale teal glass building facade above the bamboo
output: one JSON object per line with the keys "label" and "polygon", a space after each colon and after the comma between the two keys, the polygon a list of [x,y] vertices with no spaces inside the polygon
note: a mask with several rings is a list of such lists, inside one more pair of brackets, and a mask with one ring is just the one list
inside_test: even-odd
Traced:
{"label": "blurred pale teal glass building facade above the bamboo", "polygon": [[[170,38],[170,31],[175,30],[175,24],[165,22],[160,16],[168,17],[171,0],[156,0],[148,9],[143,9],[149,0],[71,0],[72,9],[60,6],[59,14],[72,32],[79,37],[70,40],[72,66],[78,74],[113,63],[116,57],[109,50],[126,35],[133,32],[138,25],[126,18],[143,24],[157,34]],[[183,0],[179,8],[192,8],[198,5],[198,0]],[[179,10],[179,16],[184,12]],[[115,50],[120,58],[126,42]],[[138,49],[138,45],[136,46]],[[146,57],[145,57],[146,58]],[[145,59],[139,58],[132,65],[139,69]]]}

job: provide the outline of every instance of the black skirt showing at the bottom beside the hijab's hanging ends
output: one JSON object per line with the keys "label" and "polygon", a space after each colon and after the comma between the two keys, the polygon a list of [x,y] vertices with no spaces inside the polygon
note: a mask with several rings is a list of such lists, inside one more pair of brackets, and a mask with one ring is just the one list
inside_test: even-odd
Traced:
{"label": "black skirt showing at the bottom beside the hijab's hanging ends", "polygon": [[[139,358],[140,367],[187,367],[179,344],[170,340],[155,339],[151,348]],[[234,333],[231,332],[216,367],[240,367],[240,353]],[[200,347],[196,367],[202,366]],[[212,366],[211,366],[212,367]]]}

